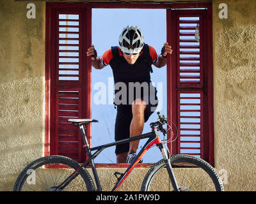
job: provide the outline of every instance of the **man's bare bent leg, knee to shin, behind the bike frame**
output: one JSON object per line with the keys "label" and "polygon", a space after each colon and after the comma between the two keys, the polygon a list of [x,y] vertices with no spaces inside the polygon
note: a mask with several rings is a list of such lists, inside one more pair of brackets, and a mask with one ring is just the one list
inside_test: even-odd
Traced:
{"label": "man's bare bent leg, knee to shin, behind the bike frame", "polygon": [[[147,108],[145,101],[135,99],[132,103],[132,121],[130,125],[130,137],[141,135],[144,128],[144,112]],[[136,153],[140,140],[130,142],[129,152]]]}

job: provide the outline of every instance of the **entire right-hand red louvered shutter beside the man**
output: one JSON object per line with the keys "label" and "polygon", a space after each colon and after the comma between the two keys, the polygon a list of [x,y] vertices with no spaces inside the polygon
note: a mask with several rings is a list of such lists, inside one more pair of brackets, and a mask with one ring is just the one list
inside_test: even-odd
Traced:
{"label": "entire right-hand red louvered shutter beside the man", "polygon": [[[168,11],[172,64],[168,71],[168,103],[179,136],[169,145],[173,154],[191,154],[213,161],[211,8]],[[195,35],[200,31],[200,40]],[[175,79],[173,77],[176,76]]]}

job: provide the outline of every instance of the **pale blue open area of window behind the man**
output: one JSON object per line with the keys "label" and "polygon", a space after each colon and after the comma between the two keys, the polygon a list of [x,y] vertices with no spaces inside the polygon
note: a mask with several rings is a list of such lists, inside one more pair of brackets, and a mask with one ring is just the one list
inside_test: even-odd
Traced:
{"label": "pale blue open area of window behind the man", "polygon": [[[138,18],[136,24],[133,18],[123,18],[135,15]],[[154,47],[157,53],[161,51],[166,40],[166,9],[92,8],[92,42],[98,55],[102,55],[111,46],[118,45],[119,35],[127,25],[140,27],[146,43]],[[166,66],[161,69],[152,66],[152,69],[154,72],[151,74],[151,81],[157,88],[157,96],[161,98],[159,111],[166,115]],[[99,123],[92,124],[92,147],[115,142],[116,109],[113,105],[113,83],[113,71],[110,66],[103,69],[92,68],[92,118],[99,120]],[[99,98],[99,93],[102,92],[106,95]],[[102,102],[99,104],[97,101],[100,100]],[[143,133],[150,132],[150,123],[156,120],[155,112],[145,123]],[[145,142],[147,139],[140,141],[138,152]],[[158,148],[152,148],[143,156],[143,163],[157,162],[162,157]],[[116,163],[115,146],[104,149],[95,159],[95,163]]]}

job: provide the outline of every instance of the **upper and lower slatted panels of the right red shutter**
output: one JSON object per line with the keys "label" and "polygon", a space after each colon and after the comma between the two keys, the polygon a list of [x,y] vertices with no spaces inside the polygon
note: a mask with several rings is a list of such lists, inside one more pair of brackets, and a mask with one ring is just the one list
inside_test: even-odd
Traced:
{"label": "upper and lower slatted panels of the right red shutter", "polygon": [[[196,41],[196,28],[201,16],[179,15],[179,60],[177,61],[178,87],[189,87],[191,91],[178,91],[179,153],[201,157],[203,138],[203,96],[196,91],[202,87],[202,56],[200,40]],[[201,33],[202,35],[203,33]],[[200,36],[199,36],[200,39]]]}

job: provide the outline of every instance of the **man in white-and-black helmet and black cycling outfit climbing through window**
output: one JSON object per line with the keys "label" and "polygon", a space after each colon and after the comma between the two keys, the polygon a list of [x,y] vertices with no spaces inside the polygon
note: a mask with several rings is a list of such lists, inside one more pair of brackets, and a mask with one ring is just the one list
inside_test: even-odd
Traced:
{"label": "man in white-and-black helmet and black cycling outfit climbing through window", "polygon": [[[95,69],[107,65],[112,68],[114,103],[117,106],[115,140],[141,135],[144,123],[156,110],[158,101],[156,88],[150,81],[151,65],[157,68],[165,66],[167,54],[172,54],[172,47],[164,43],[161,54],[157,55],[153,47],[145,44],[141,29],[127,26],[120,34],[119,47],[111,47],[102,56],[97,56],[95,47],[91,45],[86,54],[91,56]],[[123,94],[124,90],[126,94]],[[131,163],[138,145],[139,140],[116,145],[116,163]]]}

